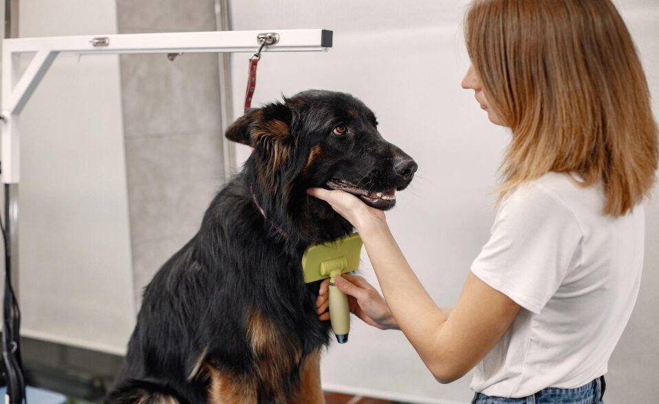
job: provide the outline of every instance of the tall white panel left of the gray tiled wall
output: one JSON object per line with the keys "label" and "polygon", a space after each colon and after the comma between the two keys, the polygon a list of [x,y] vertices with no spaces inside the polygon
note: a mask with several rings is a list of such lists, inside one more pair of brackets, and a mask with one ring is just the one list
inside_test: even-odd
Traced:
{"label": "tall white panel left of the gray tiled wall", "polygon": [[[112,34],[114,0],[20,2],[20,36]],[[21,334],[122,353],[135,322],[119,60],[61,54],[21,115]]]}

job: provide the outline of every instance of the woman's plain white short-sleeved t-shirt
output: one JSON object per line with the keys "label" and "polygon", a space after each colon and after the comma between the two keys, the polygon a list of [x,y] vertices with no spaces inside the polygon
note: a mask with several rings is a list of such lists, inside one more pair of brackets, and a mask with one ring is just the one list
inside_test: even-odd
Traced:
{"label": "woman's plain white short-sleeved t-shirt", "polygon": [[555,172],[501,202],[471,271],[521,310],[476,366],[473,390],[517,398],[607,372],[638,295],[645,212],[603,216],[604,202],[601,184]]}

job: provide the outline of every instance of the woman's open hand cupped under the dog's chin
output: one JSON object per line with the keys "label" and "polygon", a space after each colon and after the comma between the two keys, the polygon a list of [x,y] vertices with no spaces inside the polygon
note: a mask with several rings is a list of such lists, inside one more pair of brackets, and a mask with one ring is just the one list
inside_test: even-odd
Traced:
{"label": "woman's open hand cupped under the dog's chin", "polygon": [[363,232],[373,225],[386,225],[385,212],[370,207],[353,194],[341,190],[325,190],[324,188],[310,188],[307,194],[329,203],[332,209],[341,214],[347,221]]}

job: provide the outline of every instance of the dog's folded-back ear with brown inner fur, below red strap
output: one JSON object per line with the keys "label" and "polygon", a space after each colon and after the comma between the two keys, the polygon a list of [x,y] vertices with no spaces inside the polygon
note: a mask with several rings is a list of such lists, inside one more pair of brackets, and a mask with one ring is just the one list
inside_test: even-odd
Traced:
{"label": "dog's folded-back ear with brown inner fur, below red strap", "polygon": [[226,129],[224,135],[233,142],[255,147],[263,139],[287,136],[291,117],[288,106],[274,102],[248,110]]}

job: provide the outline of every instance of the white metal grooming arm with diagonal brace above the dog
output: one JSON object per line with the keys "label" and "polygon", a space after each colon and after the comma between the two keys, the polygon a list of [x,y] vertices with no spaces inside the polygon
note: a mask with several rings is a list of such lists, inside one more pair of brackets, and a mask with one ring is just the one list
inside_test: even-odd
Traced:
{"label": "white metal grooming arm with diagonal brace above the dog", "polygon": [[[185,54],[203,52],[255,52],[259,35],[273,32],[279,41],[265,52],[314,52],[332,47],[328,30],[261,30],[175,32],[14,38],[2,41],[2,176],[3,183],[18,183],[19,116],[53,60],[61,52],[75,54]],[[34,58],[19,78],[19,56]]]}

